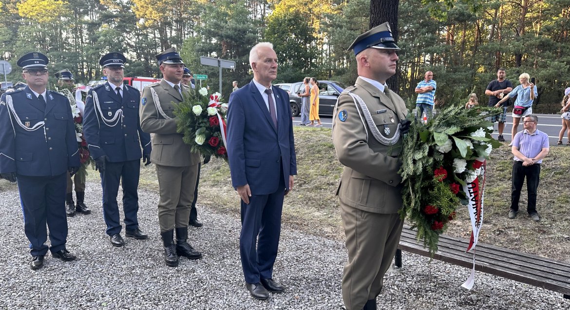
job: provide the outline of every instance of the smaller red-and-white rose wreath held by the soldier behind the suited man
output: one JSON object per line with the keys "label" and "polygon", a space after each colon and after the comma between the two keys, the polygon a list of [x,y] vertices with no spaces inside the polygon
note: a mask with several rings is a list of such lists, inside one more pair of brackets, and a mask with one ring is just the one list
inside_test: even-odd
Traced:
{"label": "smaller red-and-white rose wreath held by the soldier behind the suited man", "polygon": [[227,161],[227,104],[220,102],[220,93],[209,95],[207,89],[202,87],[197,92],[184,93],[183,97],[184,100],[177,104],[174,111],[178,117],[178,132],[184,135],[182,140],[190,145],[192,152]]}

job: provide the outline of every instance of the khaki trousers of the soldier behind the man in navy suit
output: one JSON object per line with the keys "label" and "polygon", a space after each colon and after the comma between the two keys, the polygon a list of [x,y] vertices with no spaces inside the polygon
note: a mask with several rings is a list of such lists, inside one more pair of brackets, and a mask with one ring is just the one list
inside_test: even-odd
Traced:
{"label": "khaki trousers of the soldier behind the man in navy suit", "polygon": [[194,199],[194,188],[198,177],[198,164],[171,167],[155,165],[160,187],[158,202],[158,223],[160,232],[175,227],[188,227],[190,206]]}

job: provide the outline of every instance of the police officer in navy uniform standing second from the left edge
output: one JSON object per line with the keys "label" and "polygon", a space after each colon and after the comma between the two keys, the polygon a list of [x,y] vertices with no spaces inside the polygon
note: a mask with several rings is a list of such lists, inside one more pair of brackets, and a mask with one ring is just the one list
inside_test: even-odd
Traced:
{"label": "police officer in navy uniform standing second from the left edge", "polygon": [[150,164],[150,134],[140,128],[140,92],[123,84],[125,56],[119,52],[104,55],[99,64],[107,83],[89,90],[85,102],[83,134],[95,169],[101,174],[103,217],[107,235],[116,247],[125,244],[121,237],[117,192],[122,178],[125,235],[135,239],[148,236],[139,229],[139,187],[141,148],[145,165]]}

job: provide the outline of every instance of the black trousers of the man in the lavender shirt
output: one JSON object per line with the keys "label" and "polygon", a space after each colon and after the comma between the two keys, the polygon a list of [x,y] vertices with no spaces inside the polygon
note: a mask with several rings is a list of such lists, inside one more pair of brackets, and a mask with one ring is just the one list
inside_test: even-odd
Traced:
{"label": "black trousers of the man in the lavender shirt", "polygon": [[522,161],[512,164],[511,210],[519,210],[520,190],[523,188],[524,178],[527,178],[528,214],[536,213],[536,189],[540,178],[540,164],[523,166]]}

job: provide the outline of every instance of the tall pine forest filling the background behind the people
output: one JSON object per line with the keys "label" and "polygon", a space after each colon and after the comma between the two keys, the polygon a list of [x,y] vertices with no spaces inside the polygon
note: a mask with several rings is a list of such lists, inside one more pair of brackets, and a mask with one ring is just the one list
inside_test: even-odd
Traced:
{"label": "tall pine forest filling the background behind the people", "polygon": [[[372,6],[379,2],[398,5],[395,85],[409,103],[430,70],[439,104],[464,104],[471,92],[486,104],[484,90],[504,67],[514,85],[522,72],[536,77],[535,112],[559,111],[570,86],[570,0],[372,0]],[[369,29],[370,6],[370,0],[0,0],[0,59],[12,64],[8,79],[15,82],[16,60],[45,52],[52,73],[69,68],[87,83],[101,78],[99,58],[109,51],[129,59],[125,76],[158,77],[154,55],[174,46],[212,85],[218,68],[201,66],[200,56],[235,61],[235,70],[222,72],[228,95],[231,81],[242,86],[253,77],[250,48],[269,41],[280,61],[276,83],[315,76],[353,84],[356,64],[346,48]]]}

